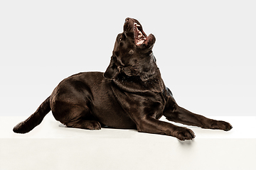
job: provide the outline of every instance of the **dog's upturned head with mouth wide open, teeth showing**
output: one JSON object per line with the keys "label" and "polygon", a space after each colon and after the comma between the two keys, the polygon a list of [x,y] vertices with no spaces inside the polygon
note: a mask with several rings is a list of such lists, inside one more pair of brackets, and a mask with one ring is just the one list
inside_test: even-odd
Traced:
{"label": "dog's upturned head with mouth wide open, teeth showing", "polygon": [[124,32],[117,35],[110,65],[104,76],[114,79],[119,74],[127,77],[147,77],[156,67],[152,48],[156,38],[144,33],[142,24],[136,19],[126,18]]}

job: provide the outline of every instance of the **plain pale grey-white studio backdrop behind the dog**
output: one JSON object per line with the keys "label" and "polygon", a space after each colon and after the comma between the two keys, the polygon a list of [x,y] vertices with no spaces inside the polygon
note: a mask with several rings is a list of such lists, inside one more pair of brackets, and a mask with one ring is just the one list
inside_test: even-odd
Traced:
{"label": "plain pale grey-white studio backdrop behind the dog", "polygon": [[177,103],[256,115],[256,1],[0,1],[0,115],[31,115],[78,72],[105,72],[124,19],[156,36]]}

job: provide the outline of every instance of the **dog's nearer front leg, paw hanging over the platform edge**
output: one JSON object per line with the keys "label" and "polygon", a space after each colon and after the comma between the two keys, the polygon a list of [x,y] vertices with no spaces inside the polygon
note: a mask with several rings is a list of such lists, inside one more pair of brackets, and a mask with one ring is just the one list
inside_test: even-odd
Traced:
{"label": "dog's nearer front leg, paw hanging over the platform edge", "polygon": [[169,135],[177,137],[178,140],[192,140],[196,137],[193,131],[188,128],[178,127],[152,117],[146,117],[140,120],[139,123],[137,123],[137,130],[139,132]]}

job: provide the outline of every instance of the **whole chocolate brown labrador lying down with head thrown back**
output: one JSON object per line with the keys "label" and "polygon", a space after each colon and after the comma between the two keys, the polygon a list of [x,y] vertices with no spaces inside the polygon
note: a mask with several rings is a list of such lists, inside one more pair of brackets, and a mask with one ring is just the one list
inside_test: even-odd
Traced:
{"label": "whole chocolate brown labrador lying down with head thrown back", "polygon": [[178,140],[192,140],[195,135],[188,128],[160,121],[162,115],[176,123],[230,130],[229,123],[178,106],[156,65],[152,52],[155,41],[154,35],[144,33],[139,21],[127,18],[106,72],[83,72],[64,79],[35,113],[14,127],[14,132],[31,131],[50,111],[70,128],[137,129]]}

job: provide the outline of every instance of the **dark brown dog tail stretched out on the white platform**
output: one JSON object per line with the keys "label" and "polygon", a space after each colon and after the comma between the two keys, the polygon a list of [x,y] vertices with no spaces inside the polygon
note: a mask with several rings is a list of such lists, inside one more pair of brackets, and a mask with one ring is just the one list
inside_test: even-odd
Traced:
{"label": "dark brown dog tail stretched out on the white platform", "polygon": [[38,107],[35,113],[14,127],[14,132],[26,133],[33,130],[33,128],[42,122],[43,118],[50,112],[50,110],[50,97],[48,97],[46,101],[43,101],[41,106]]}

